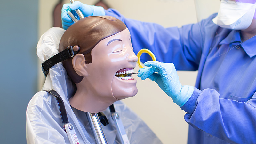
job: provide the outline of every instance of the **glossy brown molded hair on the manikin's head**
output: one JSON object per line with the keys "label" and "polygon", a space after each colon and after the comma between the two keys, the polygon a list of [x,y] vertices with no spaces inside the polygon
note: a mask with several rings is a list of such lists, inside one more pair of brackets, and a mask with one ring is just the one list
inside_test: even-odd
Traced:
{"label": "glossy brown molded hair on the manikin's head", "polygon": [[[112,36],[126,29],[126,25],[111,16],[90,16],[85,17],[71,25],[62,35],[59,44],[59,52],[68,46],[78,45],[84,54],[85,63],[92,63],[91,51],[103,39]],[[72,59],[63,61],[63,66],[72,81],[79,83],[83,76],[79,76],[73,68]]]}

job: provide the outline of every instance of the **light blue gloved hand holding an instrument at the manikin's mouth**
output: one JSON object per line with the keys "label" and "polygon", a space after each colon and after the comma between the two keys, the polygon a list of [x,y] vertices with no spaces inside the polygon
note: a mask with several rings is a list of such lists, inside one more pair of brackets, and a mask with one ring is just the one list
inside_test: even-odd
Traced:
{"label": "light blue gloved hand holding an instrument at the manikin's mouth", "polygon": [[[186,104],[194,92],[194,87],[181,85],[173,63],[147,61],[144,65],[147,67],[139,69],[138,77],[141,77],[142,80],[149,78],[155,81],[172,98],[173,102],[180,107]],[[155,72],[158,72],[158,74]]]}

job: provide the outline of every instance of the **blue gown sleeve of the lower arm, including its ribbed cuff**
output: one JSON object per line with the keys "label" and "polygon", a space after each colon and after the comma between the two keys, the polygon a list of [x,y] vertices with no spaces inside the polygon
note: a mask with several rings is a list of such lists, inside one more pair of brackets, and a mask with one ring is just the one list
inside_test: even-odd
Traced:
{"label": "blue gown sleeve of the lower arm, including its ribbed cuff", "polygon": [[252,99],[240,102],[220,98],[213,89],[198,90],[181,107],[184,119],[202,130],[229,143],[256,143],[256,93]]}

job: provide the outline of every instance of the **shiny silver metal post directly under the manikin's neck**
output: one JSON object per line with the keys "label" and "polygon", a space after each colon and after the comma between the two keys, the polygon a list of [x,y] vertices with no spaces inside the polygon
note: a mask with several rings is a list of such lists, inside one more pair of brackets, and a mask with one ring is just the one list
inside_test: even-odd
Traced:
{"label": "shiny silver metal post directly under the manikin's neck", "polygon": [[86,116],[97,144],[108,144],[97,113],[86,112]]}

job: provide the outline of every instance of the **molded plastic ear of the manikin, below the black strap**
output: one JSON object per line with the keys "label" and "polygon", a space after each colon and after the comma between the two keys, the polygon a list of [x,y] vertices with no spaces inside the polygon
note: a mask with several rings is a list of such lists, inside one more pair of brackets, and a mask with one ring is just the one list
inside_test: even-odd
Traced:
{"label": "molded plastic ear of the manikin, below the black strap", "polygon": [[87,66],[83,54],[76,54],[72,59],[73,68],[79,76],[87,76]]}

